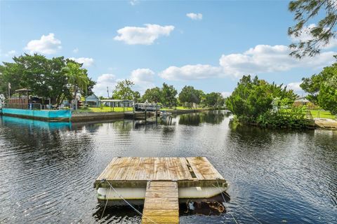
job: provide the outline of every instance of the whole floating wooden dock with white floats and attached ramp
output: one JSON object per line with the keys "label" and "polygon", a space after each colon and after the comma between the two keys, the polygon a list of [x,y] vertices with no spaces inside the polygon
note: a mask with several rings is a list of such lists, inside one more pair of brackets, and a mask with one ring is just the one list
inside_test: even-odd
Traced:
{"label": "whole floating wooden dock with white floats and attached ramp", "polygon": [[142,223],[178,223],[179,203],[227,190],[204,157],[113,158],[94,183],[99,202],[144,204]]}

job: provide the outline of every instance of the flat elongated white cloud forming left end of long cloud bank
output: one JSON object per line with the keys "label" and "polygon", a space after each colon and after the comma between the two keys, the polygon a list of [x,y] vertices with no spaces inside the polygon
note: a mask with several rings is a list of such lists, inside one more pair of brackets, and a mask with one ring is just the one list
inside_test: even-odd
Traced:
{"label": "flat elongated white cloud forming left end of long cloud bank", "polygon": [[169,66],[161,71],[159,76],[167,80],[195,80],[203,78],[218,77],[223,73],[222,68],[209,64],[187,64],[182,67]]}

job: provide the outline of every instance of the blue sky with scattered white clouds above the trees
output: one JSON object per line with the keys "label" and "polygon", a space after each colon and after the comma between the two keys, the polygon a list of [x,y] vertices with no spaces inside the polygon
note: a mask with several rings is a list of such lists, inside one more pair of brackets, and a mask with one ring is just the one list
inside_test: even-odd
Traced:
{"label": "blue sky with scattered white clouds above the trees", "polygon": [[0,1],[0,62],[25,52],[72,58],[104,97],[124,78],[140,93],[169,83],[228,96],[247,74],[303,94],[301,79],[335,61],[337,41],[317,57],[289,56],[288,3]]}

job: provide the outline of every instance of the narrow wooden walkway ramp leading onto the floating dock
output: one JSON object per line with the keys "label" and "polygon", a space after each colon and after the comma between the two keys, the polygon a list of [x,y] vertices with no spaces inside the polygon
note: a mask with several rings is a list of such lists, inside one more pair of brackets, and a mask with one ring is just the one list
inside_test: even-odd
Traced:
{"label": "narrow wooden walkway ramp leading onto the floating dock", "polygon": [[179,223],[176,181],[147,182],[142,223]]}

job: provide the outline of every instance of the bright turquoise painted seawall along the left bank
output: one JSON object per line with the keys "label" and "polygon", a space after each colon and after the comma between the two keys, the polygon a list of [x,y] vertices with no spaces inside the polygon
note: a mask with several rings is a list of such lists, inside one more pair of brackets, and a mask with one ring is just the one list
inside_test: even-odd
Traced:
{"label": "bright turquoise painted seawall along the left bank", "polygon": [[2,109],[2,113],[6,114],[15,114],[22,116],[30,116],[37,118],[71,118],[71,111],[34,111],[34,110],[23,110],[23,109],[11,109],[4,108]]}

